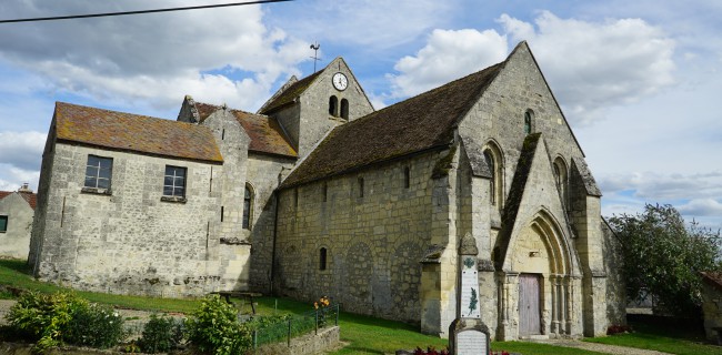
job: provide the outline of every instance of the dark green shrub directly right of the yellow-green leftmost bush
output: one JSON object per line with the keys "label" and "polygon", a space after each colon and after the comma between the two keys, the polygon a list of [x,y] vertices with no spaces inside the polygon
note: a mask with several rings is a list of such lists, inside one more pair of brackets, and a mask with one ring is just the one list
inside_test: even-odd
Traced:
{"label": "dark green shrub directly right of the yellow-green leftmost bush", "polygon": [[62,341],[73,345],[109,348],[120,344],[127,333],[123,318],[110,306],[90,304],[72,314]]}

